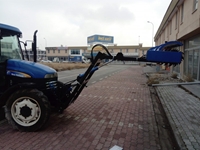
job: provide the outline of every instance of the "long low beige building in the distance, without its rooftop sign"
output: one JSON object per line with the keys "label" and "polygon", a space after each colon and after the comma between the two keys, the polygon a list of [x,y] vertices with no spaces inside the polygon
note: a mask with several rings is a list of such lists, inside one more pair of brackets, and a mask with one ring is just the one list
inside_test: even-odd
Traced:
{"label": "long low beige building in the distance, without its rooftop sign", "polygon": [[[150,47],[142,47],[138,45],[124,45],[124,46],[107,46],[112,55],[122,52],[124,56],[139,57],[146,54]],[[100,48],[101,49],[101,48]],[[48,60],[59,58],[60,61],[77,61],[75,58],[85,56],[90,58],[91,48],[88,46],[71,46],[71,47],[46,47],[46,56]]]}

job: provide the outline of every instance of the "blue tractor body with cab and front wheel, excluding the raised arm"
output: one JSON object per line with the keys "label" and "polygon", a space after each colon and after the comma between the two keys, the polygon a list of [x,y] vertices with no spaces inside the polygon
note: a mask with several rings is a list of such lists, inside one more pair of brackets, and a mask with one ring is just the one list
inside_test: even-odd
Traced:
{"label": "blue tractor body with cab and front wheel, excluding the raised arm", "polygon": [[[24,60],[21,35],[18,28],[0,24],[0,107],[5,106],[5,117],[13,128],[36,131],[49,118],[49,90],[57,86],[57,72]],[[36,32],[32,47],[36,53]]]}

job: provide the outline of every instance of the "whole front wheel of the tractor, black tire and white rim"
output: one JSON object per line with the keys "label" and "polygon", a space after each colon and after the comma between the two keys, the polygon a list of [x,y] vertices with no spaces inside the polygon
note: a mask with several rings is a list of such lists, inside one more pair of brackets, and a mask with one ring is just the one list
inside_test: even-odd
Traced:
{"label": "whole front wheel of the tractor, black tire and white rim", "polygon": [[50,103],[37,89],[18,90],[6,103],[5,117],[19,131],[37,131],[46,124],[49,116]]}

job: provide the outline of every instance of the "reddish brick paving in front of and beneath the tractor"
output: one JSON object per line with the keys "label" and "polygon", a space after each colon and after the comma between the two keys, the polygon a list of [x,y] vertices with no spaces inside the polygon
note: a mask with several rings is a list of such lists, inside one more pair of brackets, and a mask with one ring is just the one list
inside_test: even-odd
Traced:
{"label": "reddish brick paving in front of and beneath the tractor", "polygon": [[132,66],[97,82],[39,132],[18,132],[3,122],[0,149],[161,149],[146,80],[142,68]]}

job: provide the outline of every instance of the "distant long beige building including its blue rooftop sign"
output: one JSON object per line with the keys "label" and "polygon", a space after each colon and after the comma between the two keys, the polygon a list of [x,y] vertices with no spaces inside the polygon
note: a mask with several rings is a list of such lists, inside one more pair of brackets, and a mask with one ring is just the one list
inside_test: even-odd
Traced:
{"label": "distant long beige building including its blue rooftop sign", "polygon": [[[109,52],[115,56],[118,52],[122,52],[127,57],[139,57],[146,54],[150,47],[142,47],[142,44],[138,45],[124,45],[118,46],[114,44],[114,37],[108,35],[92,35],[87,37],[87,46],[71,46],[71,47],[46,47],[46,55],[48,60],[53,61],[58,58],[60,61],[73,61],[79,62],[83,59],[91,58],[91,49],[96,44],[103,44],[107,47]],[[96,52],[103,50],[102,47],[95,47]]]}

